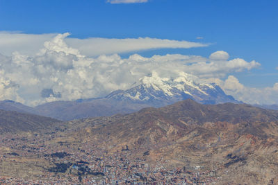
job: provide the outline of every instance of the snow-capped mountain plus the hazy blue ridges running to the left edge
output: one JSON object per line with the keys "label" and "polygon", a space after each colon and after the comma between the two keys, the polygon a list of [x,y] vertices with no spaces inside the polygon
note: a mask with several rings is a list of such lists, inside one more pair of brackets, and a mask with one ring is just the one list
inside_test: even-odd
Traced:
{"label": "snow-capped mountain plus the hazy blue ridges running to the left edge", "polygon": [[203,104],[239,103],[215,84],[196,82],[183,73],[178,78],[161,78],[153,72],[126,90],[113,91],[104,98],[55,101],[28,107],[12,100],[0,102],[0,109],[49,116],[63,121],[92,116],[128,114],[143,107],[163,107],[187,98]]}

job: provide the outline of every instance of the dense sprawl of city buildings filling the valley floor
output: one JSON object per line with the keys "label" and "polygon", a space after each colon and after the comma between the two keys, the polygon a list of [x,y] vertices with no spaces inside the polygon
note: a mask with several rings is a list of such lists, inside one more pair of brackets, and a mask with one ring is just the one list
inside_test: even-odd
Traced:
{"label": "dense sprawl of city buildings filling the valley floor", "polygon": [[133,159],[130,150],[109,155],[94,143],[49,143],[52,137],[0,136],[1,146],[13,151],[2,152],[0,161],[38,157],[51,165],[29,179],[0,174],[0,184],[213,184],[218,180],[199,166],[168,169],[161,162],[148,164],[145,159]]}

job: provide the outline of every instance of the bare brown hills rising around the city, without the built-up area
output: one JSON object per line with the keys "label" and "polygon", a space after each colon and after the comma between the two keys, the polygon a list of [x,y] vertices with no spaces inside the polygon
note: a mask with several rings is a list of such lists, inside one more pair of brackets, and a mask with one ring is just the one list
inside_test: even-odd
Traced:
{"label": "bare brown hills rising around the city, without the built-up area", "polygon": [[[47,141],[48,148],[60,146],[60,150],[72,155],[77,148],[93,143],[94,150],[101,148],[106,155],[128,152],[129,161],[142,159],[150,166],[159,163],[165,168],[188,170],[199,166],[202,171],[219,177],[219,184],[277,182],[278,112],[275,110],[234,103],[202,105],[187,99],[160,108],[146,107],[132,114],[65,123],[7,111],[1,111],[0,118],[1,131],[51,132],[42,132],[40,141]],[[35,141],[32,134],[28,138]],[[83,152],[86,150],[84,148]],[[13,148],[9,152],[13,154]],[[37,163],[21,165],[28,168],[35,165],[34,168],[44,173],[44,168]],[[25,174],[20,165],[13,167],[13,171],[17,172],[17,177]],[[8,170],[5,174],[15,175]]]}

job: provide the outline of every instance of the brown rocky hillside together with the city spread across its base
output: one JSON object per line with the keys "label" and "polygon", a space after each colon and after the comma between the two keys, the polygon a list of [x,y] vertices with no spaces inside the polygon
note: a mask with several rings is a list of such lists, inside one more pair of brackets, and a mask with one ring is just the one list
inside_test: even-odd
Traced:
{"label": "brown rocky hillside together with the city spread across its base", "polygon": [[[275,110],[233,103],[202,105],[188,99],[133,114],[56,124],[44,133],[3,134],[0,169],[5,178],[60,177],[68,183],[82,179],[84,184],[104,179],[277,184],[277,136]],[[112,167],[107,167],[108,173],[101,166]],[[88,170],[80,171],[83,168]],[[145,176],[136,176],[139,172]],[[117,173],[123,176],[116,178]]]}

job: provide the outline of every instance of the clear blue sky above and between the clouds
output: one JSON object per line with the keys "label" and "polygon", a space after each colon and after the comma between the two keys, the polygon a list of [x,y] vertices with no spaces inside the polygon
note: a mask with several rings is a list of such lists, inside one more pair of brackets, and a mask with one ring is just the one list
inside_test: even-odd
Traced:
{"label": "clear blue sky above and between the clouds", "polygon": [[79,39],[151,37],[210,44],[119,54],[122,58],[133,53],[148,58],[177,53],[208,58],[215,51],[227,51],[231,59],[261,64],[229,75],[246,87],[263,88],[278,82],[277,7],[275,0],[0,0],[0,31],[38,35],[69,32],[69,37]]}

